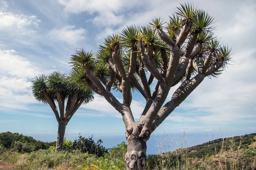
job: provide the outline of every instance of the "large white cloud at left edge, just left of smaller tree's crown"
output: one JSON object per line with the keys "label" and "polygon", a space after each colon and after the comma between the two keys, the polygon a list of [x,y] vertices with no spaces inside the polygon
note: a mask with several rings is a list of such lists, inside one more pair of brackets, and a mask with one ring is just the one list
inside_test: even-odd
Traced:
{"label": "large white cloud at left edge, just left of smaller tree's crown", "polygon": [[31,110],[29,104],[36,100],[29,90],[30,79],[39,68],[13,49],[0,50],[0,73],[0,110]]}

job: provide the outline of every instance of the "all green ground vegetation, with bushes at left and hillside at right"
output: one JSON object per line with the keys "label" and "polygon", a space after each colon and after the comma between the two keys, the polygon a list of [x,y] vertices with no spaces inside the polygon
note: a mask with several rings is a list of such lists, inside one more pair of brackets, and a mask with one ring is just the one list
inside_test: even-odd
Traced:
{"label": "all green ground vegetation, with bushes at left and hillside at right", "polygon": [[[107,150],[101,145],[101,140],[94,142],[92,136],[86,139],[79,135],[73,143],[64,139],[63,151],[58,153],[55,152],[54,145],[49,146],[49,149],[24,153],[24,150],[15,150],[17,142],[10,140],[18,139],[24,142],[21,138],[30,139],[25,142],[35,140],[18,133],[0,134],[0,146],[2,146],[0,147],[0,160],[14,164],[12,170],[36,168],[41,170],[49,168],[54,170],[125,170],[124,158],[127,151],[125,142]],[[3,147],[6,141],[12,143],[9,149]],[[51,143],[54,144],[54,142]],[[28,146],[31,145],[28,143]],[[193,147],[147,156],[148,170],[255,170],[255,168],[256,133],[216,139]]]}

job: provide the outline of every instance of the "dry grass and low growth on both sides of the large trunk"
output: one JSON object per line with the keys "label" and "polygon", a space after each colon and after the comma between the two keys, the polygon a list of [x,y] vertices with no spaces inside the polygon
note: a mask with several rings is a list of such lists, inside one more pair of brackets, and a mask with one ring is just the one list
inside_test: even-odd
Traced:
{"label": "dry grass and low growth on both sides of the large trunk", "polygon": [[[172,143],[168,136],[162,139]],[[183,139],[182,139],[183,138]],[[216,139],[194,147],[186,147],[186,133],[180,138],[180,149],[148,155],[150,170],[254,170],[256,168],[256,133]],[[17,153],[5,150],[0,153],[0,169],[4,170],[125,170],[125,144],[113,147],[103,157],[94,154],[52,150]],[[196,152],[191,152],[195,150]]]}

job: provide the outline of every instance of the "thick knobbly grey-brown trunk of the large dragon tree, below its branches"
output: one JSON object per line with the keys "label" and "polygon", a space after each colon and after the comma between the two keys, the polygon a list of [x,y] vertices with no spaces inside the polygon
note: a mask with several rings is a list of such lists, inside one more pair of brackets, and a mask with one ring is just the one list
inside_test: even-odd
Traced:
{"label": "thick knobbly grey-brown trunk of the large dragon tree, below its branches", "polygon": [[146,169],[146,142],[149,139],[148,131],[143,126],[134,124],[127,128],[127,153],[125,154],[125,167],[127,170]]}

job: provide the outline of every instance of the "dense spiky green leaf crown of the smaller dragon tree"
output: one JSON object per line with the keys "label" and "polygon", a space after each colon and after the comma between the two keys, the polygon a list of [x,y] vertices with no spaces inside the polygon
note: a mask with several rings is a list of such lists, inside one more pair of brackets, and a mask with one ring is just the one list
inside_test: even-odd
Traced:
{"label": "dense spiky green leaf crown of the smaller dragon tree", "polygon": [[86,73],[82,69],[72,70],[70,75],[62,74],[59,71],[53,71],[48,76],[39,74],[32,80],[32,94],[38,102],[48,104],[44,93],[49,94],[51,99],[57,100],[56,91],[60,91],[64,98],[70,94],[78,93],[78,97],[85,97],[85,101],[93,100],[92,91],[82,82],[86,78]]}

